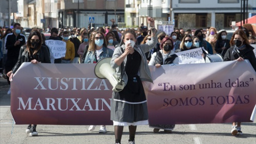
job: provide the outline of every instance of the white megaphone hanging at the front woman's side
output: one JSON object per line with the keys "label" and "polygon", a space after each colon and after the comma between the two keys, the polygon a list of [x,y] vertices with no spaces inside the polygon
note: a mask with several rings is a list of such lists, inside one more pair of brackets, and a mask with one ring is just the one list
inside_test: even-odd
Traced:
{"label": "white megaphone hanging at the front woman's side", "polygon": [[103,58],[97,62],[94,67],[94,74],[101,79],[107,78],[113,86],[114,91],[122,91],[124,89],[124,81],[116,75],[115,69],[110,66],[111,58]]}

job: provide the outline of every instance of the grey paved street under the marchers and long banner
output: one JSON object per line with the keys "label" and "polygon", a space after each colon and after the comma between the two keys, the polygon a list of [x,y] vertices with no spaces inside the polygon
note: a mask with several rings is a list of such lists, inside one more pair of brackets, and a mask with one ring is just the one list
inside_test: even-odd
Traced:
{"label": "grey paved street under the marchers and long banner", "polygon": [[[115,143],[114,127],[107,126],[108,132],[87,131],[89,125],[38,125],[37,137],[25,133],[27,125],[15,125],[10,111],[9,86],[0,78],[0,143]],[[29,118],[29,117],[28,117]],[[79,118],[79,116],[74,117]],[[176,125],[172,133],[153,133],[148,126],[138,126],[135,143],[175,143],[175,144],[227,144],[256,143],[256,123],[242,123],[242,136],[230,134],[231,124],[189,124]],[[128,143],[128,127],[124,128],[122,143]]]}

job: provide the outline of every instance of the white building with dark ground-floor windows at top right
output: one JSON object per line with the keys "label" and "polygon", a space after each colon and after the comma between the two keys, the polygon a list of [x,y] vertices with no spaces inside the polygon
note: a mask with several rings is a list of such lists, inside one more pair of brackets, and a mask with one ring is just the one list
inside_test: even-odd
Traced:
{"label": "white building with dark ground-floor windows at top right", "polygon": [[[255,13],[255,0],[248,0],[248,13]],[[240,21],[241,0],[172,0],[175,26],[185,29],[230,28],[231,21]]]}

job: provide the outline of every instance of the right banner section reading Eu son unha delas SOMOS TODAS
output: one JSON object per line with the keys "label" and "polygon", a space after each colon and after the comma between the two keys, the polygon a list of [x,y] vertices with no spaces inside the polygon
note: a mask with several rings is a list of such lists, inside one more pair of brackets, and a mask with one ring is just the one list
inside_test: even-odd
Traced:
{"label": "right banner section reading Eu son unha delas SOMOS TODAS", "polygon": [[151,67],[150,124],[251,122],[255,71],[249,61]]}

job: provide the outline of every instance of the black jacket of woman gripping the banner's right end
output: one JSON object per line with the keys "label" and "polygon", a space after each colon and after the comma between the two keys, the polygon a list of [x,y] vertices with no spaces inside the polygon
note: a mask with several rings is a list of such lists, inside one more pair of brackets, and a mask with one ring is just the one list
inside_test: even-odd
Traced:
{"label": "black jacket of woman gripping the banner's right end", "polygon": [[244,60],[247,59],[250,61],[252,67],[254,68],[254,70],[256,71],[256,58],[253,52],[254,47],[252,47],[251,45],[245,45],[246,48],[244,50],[239,50],[236,51],[235,46],[231,46],[225,56],[224,56],[224,61],[230,61],[230,60],[236,60],[239,57],[242,57]]}

